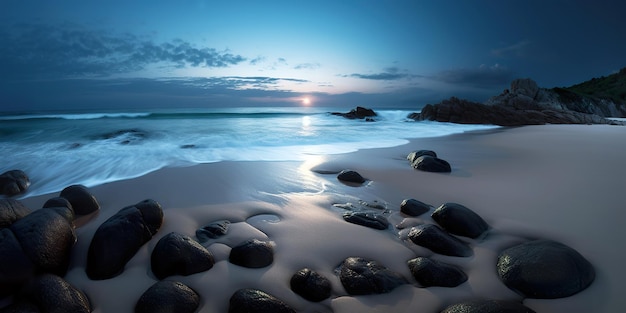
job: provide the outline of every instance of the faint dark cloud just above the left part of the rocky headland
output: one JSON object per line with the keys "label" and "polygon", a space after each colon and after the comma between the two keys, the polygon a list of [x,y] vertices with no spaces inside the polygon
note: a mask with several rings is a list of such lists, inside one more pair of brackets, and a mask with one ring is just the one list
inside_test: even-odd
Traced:
{"label": "faint dark cloud just above the left part of the rocky headland", "polygon": [[508,68],[495,64],[481,65],[477,68],[460,68],[436,74],[433,79],[454,85],[472,87],[500,87],[508,85],[514,73]]}

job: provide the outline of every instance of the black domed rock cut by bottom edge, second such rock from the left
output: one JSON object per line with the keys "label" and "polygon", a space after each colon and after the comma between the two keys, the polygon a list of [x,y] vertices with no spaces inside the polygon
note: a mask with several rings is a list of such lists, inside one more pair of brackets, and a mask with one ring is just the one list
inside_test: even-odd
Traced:
{"label": "black domed rock cut by bottom edge, second such rock from the left", "polygon": [[156,282],[135,305],[136,313],[193,313],[200,306],[200,296],[187,285],[170,280]]}

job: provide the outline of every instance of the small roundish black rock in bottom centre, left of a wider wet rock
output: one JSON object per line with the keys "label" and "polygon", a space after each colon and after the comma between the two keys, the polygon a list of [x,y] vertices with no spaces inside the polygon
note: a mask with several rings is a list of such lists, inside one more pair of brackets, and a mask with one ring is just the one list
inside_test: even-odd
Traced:
{"label": "small roundish black rock in bottom centre, left of a wider wet rock", "polygon": [[330,281],[310,268],[303,268],[293,274],[290,286],[293,292],[312,302],[328,299],[332,291]]}

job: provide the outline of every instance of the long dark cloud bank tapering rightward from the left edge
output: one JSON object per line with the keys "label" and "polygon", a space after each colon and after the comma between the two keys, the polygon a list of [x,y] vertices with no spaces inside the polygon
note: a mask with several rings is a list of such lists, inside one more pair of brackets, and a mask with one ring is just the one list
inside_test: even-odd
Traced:
{"label": "long dark cloud bank tapering rightward from the left edge", "polygon": [[227,67],[245,60],[183,40],[156,43],[147,37],[71,24],[21,24],[0,31],[0,69],[4,76],[19,78],[109,76],[157,63]]}

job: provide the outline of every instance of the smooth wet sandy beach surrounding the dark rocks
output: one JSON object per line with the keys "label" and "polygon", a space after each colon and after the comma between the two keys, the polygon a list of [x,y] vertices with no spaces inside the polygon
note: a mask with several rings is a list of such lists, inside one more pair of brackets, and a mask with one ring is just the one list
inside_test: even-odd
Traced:
{"label": "smooth wet sandy beach surrounding the dark rocks", "polygon": [[[364,134],[367,136],[367,134]],[[204,246],[214,255],[212,269],[173,276],[201,297],[199,312],[226,312],[241,288],[261,289],[298,312],[439,312],[468,299],[522,301],[536,312],[618,312],[626,307],[626,128],[603,125],[546,125],[414,139],[409,144],[355,153],[315,156],[304,162],[218,162],[164,168],[139,178],[91,187],[101,210],[77,220],[67,281],[83,290],[93,312],[132,312],[157,279],[150,254],[170,232],[194,237],[196,229],[230,220],[223,237]],[[449,174],[414,170],[406,155],[428,149],[452,165]],[[336,178],[355,170],[368,181],[346,185]],[[23,199],[40,208],[58,194]],[[123,207],[144,199],[158,201],[164,222],[158,234],[126,265],[123,274],[91,281],[85,274],[94,232]],[[407,240],[411,226],[434,223],[430,213],[400,213],[402,200],[414,198],[434,208],[446,202],[465,205],[491,227],[484,238],[467,239],[471,257],[435,255]],[[334,204],[376,204],[391,227],[375,230],[343,220]],[[228,261],[231,247],[247,239],[269,240],[274,262],[243,268]],[[500,251],[529,239],[560,241],[587,258],[596,278],[586,290],[567,298],[523,299],[496,274]],[[350,296],[336,274],[347,257],[373,259],[407,278],[390,293]],[[469,279],[455,288],[422,288],[407,260],[416,256],[458,265]],[[332,295],[319,303],[290,290],[291,276],[303,267],[331,281]]]}

